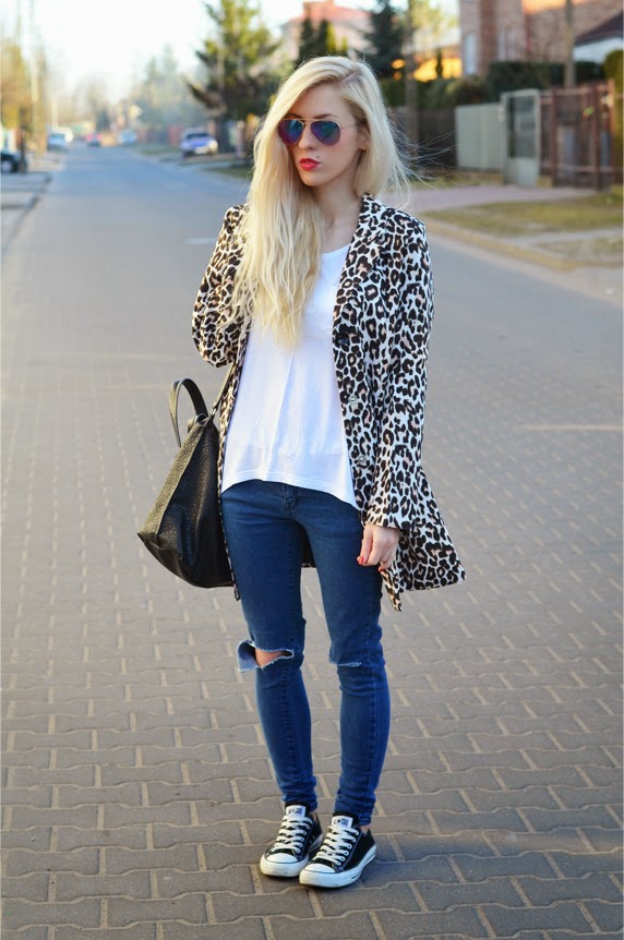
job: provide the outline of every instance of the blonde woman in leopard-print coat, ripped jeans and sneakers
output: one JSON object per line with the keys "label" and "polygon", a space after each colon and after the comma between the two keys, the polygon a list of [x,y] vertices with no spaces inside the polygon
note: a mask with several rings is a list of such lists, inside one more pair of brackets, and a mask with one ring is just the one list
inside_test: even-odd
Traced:
{"label": "blonde woman in leopard-print coat, ripped jeans and sneakers", "polygon": [[[193,338],[235,363],[221,408],[221,511],[264,735],[285,803],[263,873],[340,888],[374,858],[389,731],[380,610],[464,577],[420,462],[433,316],[422,225],[374,194],[407,181],[379,84],[312,59],[255,140],[249,201],[229,209]],[[341,692],[341,773],[323,836],[301,674],[301,566],[317,570]]]}

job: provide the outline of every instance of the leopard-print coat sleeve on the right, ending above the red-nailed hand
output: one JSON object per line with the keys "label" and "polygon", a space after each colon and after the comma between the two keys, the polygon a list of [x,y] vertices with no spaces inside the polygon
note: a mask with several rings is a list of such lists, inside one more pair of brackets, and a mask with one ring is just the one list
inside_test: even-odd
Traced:
{"label": "leopard-print coat sleeve on the right, ending above the red-nailed hand", "polygon": [[410,218],[403,256],[405,279],[394,313],[389,362],[371,499],[365,521],[406,531],[422,525],[421,469],[427,360],[433,321],[433,276],[424,227]]}

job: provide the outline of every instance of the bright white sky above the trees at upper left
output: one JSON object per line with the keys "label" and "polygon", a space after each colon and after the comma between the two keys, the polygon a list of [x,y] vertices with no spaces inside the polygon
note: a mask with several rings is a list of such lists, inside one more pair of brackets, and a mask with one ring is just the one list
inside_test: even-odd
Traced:
{"label": "bright white sky above the trees at upper left", "polygon": [[[337,0],[341,7],[370,9],[373,0]],[[265,23],[275,27],[298,15],[301,0],[260,0]],[[397,3],[401,5],[401,3]],[[2,24],[14,35],[16,11],[27,48],[32,12],[53,73],[69,91],[88,73],[108,73],[112,94],[121,95],[147,60],[170,43],[182,71],[194,67],[193,50],[208,35],[203,0],[4,0]]]}

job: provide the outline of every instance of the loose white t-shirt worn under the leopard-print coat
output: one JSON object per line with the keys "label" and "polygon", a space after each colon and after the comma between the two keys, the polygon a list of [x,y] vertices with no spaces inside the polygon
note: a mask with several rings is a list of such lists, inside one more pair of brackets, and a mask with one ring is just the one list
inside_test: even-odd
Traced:
{"label": "loose white t-shirt worn under the leopard-print coat", "polygon": [[356,506],[334,353],[336,292],[349,245],[321,255],[299,346],[252,326],[226,442],[221,491],[272,480]]}

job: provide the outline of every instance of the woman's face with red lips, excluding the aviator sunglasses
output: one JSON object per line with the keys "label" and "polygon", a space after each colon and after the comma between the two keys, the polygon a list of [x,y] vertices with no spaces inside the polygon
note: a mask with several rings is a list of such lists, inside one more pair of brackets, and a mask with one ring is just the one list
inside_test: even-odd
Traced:
{"label": "woman's face with red lips, excluding the aviator sunglasses", "polygon": [[[289,146],[295,169],[307,186],[336,186],[350,195],[360,155],[367,147],[365,134],[339,92],[333,85],[317,85],[302,95],[286,118],[305,121],[303,134],[297,144]],[[337,144],[323,144],[312,133],[312,121],[335,121],[340,125]],[[286,146],[286,145],[285,145]]]}

